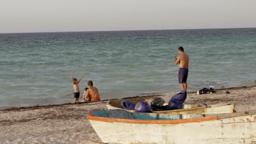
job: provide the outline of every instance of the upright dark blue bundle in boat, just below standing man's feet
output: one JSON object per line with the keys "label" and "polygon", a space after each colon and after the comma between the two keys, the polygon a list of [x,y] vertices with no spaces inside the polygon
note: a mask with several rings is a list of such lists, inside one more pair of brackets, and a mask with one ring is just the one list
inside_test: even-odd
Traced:
{"label": "upright dark blue bundle in boat, just below standing man's feet", "polygon": [[168,103],[168,110],[181,109],[182,104],[187,98],[187,92],[181,91],[180,93],[174,95]]}

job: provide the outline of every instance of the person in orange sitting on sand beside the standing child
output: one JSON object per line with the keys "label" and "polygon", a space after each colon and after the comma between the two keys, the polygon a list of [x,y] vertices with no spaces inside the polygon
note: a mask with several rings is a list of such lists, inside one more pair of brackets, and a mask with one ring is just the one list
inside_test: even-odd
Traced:
{"label": "person in orange sitting on sand beside the standing child", "polygon": [[85,101],[99,101],[100,99],[100,94],[98,94],[98,89],[94,87],[94,83],[92,81],[88,81],[88,86],[89,89],[86,91],[85,94]]}

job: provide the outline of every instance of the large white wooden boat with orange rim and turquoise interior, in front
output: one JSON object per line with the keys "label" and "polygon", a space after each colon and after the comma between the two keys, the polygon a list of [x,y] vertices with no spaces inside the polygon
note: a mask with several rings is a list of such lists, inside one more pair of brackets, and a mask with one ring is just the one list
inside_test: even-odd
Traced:
{"label": "large white wooden boat with orange rim and turquoise interior, in front", "polygon": [[255,143],[256,110],[225,114],[162,114],[94,110],[87,115],[105,143]]}

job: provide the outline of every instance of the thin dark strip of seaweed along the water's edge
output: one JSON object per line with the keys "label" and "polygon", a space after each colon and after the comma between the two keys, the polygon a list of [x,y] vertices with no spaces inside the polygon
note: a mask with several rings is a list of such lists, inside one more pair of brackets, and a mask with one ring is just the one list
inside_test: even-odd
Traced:
{"label": "thin dark strip of seaweed along the water's edge", "polygon": [[[217,92],[218,91],[223,91],[224,89],[243,89],[243,88],[252,88],[252,87],[256,87],[255,86],[242,86],[242,87],[230,87],[230,88],[220,88],[220,89],[215,89]],[[188,94],[193,94],[196,92],[188,92]],[[125,97],[125,98],[121,98],[121,99],[130,99],[130,98],[153,98],[153,97],[159,97],[159,96],[164,96],[166,94],[161,94],[161,95],[148,95],[148,96],[135,96],[135,97]],[[104,99],[101,101],[108,101],[108,100],[113,100],[113,99]],[[59,107],[59,106],[65,106],[65,105],[80,105],[80,104],[88,104],[88,103],[98,103],[99,101],[89,101],[89,102],[79,102],[78,104],[74,104],[74,103],[63,103],[63,104],[54,104],[54,105],[35,105],[35,106],[27,106],[27,107],[9,107],[7,109],[0,109],[0,111],[20,111],[20,110],[36,110],[36,109],[48,109],[48,108],[53,108],[53,107]]]}

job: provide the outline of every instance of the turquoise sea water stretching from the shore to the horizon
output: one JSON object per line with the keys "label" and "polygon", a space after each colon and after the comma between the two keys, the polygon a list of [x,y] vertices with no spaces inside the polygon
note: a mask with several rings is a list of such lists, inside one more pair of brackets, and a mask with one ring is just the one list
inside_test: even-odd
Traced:
{"label": "turquoise sea water stretching from the shore to the horizon", "polygon": [[256,28],[0,34],[0,107],[72,102],[71,74],[101,99],[177,93],[178,46],[188,91],[256,85]]}

